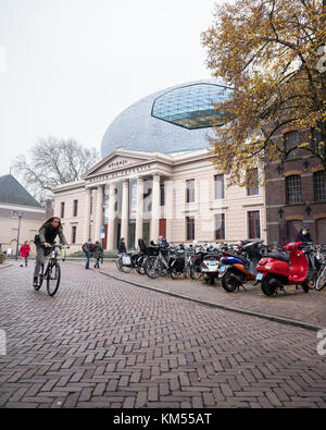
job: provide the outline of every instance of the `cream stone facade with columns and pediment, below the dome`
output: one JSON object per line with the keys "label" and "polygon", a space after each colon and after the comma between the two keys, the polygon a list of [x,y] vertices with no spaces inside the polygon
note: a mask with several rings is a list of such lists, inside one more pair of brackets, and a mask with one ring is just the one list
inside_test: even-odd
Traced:
{"label": "cream stone facade with columns and pediment, below the dome", "polygon": [[156,242],[159,235],[174,244],[266,241],[264,188],[249,196],[227,187],[210,157],[206,149],[165,155],[118,148],[82,181],[55,188],[54,214],[72,250],[89,237],[109,250],[120,237],[129,249],[140,237]]}

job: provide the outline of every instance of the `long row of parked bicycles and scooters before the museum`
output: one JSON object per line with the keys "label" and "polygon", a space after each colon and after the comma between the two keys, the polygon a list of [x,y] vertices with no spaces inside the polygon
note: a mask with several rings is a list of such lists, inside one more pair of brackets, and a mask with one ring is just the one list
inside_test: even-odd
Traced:
{"label": "long row of parked bicycles and scooters before the museum", "polygon": [[120,271],[136,270],[151,279],[159,277],[203,278],[206,284],[221,280],[223,288],[233,293],[246,284],[261,284],[266,296],[296,285],[308,293],[326,285],[326,244],[293,242],[281,248],[264,245],[263,241],[239,241],[188,247],[184,244],[160,247],[146,246],[138,241],[139,251],[121,254],[116,259]]}

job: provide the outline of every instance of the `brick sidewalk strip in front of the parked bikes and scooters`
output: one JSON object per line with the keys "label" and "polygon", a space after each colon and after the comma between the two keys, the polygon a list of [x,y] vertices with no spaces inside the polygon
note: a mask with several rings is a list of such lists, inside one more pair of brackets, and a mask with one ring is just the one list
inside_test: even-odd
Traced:
{"label": "brick sidewalk strip in front of the parked bikes and scooters", "polygon": [[100,272],[120,281],[181,296],[216,308],[267,318],[309,330],[326,328],[326,288],[322,292],[311,290],[305,294],[302,288],[296,290],[296,286],[291,285],[286,287],[286,295],[280,292],[276,296],[266,297],[260,284],[256,286],[247,284],[246,291],[240,288],[235,293],[227,293],[220,281],[215,281],[215,285],[206,285],[202,279],[193,281],[190,277],[178,280],[171,278],[152,280],[136,271],[122,273],[115,262],[109,261],[101,265]]}

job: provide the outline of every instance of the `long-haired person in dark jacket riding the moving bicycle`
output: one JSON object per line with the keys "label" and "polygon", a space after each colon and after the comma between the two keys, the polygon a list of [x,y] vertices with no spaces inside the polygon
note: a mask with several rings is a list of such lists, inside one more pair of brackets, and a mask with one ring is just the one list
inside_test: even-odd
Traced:
{"label": "long-haired person in dark jacket riding the moving bicycle", "polygon": [[36,265],[34,271],[34,282],[33,285],[37,284],[37,277],[39,274],[41,266],[45,263],[45,256],[47,255],[47,248],[54,245],[55,237],[60,237],[60,242],[67,248],[66,239],[62,232],[62,225],[60,218],[52,217],[49,218],[39,229],[38,241],[35,242],[36,245]]}

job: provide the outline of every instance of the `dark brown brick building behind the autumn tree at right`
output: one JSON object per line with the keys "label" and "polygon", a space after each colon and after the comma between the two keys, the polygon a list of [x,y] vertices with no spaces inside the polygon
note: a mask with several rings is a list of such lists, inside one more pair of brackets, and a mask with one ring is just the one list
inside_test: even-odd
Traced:
{"label": "dark brown brick building behind the autumn tree at right", "polygon": [[[266,167],[266,221],[268,243],[284,245],[310,226],[315,243],[326,243],[325,171],[317,157],[298,145],[311,142],[308,131],[283,130],[277,137],[288,153]],[[316,145],[318,139],[312,142]]]}

